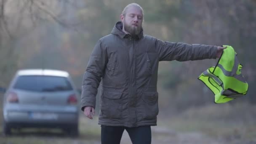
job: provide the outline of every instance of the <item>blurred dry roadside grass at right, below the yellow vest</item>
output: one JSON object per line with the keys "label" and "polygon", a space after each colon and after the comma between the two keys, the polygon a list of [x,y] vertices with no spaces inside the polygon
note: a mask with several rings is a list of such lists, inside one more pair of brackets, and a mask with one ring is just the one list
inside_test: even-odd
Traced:
{"label": "blurred dry roadside grass at right, below the yellow vest", "polygon": [[248,103],[193,107],[160,120],[159,126],[175,131],[200,131],[215,139],[256,142],[256,106]]}

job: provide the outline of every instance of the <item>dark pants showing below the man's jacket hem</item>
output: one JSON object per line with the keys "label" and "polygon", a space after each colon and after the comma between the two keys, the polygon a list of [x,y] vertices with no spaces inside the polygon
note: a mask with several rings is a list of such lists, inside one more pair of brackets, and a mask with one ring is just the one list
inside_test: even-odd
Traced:
{"label": "dark pants showing below the man's jacket hem", "polygon": [[120,144],[124,130],[128,132],[133,144],[151,144],[149,125],[133,128],[101,125],[101,144]]}

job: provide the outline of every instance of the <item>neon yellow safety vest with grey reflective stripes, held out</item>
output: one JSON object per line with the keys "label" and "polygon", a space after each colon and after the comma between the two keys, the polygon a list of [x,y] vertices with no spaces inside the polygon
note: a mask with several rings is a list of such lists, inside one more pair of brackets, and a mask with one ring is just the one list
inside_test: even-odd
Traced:
{"label": "neon yellow safety vest with grey reflective stripes, held out", "polygon": [[225,103],[245,95],[248,83],[241,74],[242,65],[230,45],[224,49],[216,67],[210,67],[198,79],[215,94],[215,103]]}

